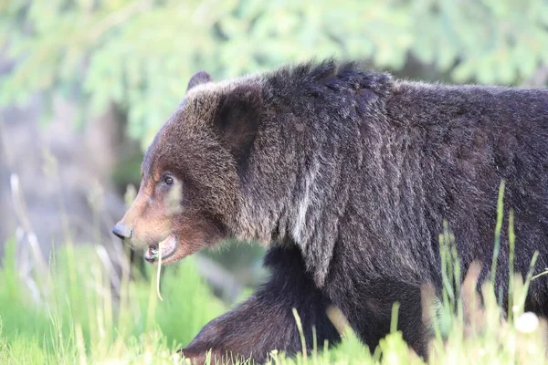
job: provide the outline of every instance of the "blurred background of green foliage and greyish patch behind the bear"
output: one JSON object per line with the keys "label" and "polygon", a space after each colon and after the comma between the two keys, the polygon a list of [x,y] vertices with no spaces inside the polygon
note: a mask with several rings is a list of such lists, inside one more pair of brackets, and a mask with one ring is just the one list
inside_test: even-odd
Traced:
{"label": "blurred background of green foliage and greyish patch behind the bear", "polygon": [[[0,256],[14,242],[25,276],[53,246],[90,245],[116,272],[125,254],[111,227],[188,79],[312,57],[363,59],[401,78],[543,87],[548,2],[0,2]],[[265,276],[263,254],[228,243],[193,259],[232,303]]]}

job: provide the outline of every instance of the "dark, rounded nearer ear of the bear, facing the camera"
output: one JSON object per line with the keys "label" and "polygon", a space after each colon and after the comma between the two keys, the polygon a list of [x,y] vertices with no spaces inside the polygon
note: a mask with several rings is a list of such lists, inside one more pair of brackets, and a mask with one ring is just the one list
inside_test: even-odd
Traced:
{"label": "dark, rounded nearer ear of the bear, facing the camera", "polygon": [[238,85],[220,100],[214,127],[242,167],[257,136],[262,114],[258,85]]}

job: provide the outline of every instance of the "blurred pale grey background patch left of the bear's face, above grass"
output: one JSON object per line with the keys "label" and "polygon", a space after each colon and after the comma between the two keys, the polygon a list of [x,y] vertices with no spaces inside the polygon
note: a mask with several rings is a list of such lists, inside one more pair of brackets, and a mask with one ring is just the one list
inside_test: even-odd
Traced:
{"label": "blurred pale grey background patch left of the bear's face, above grass", "polygon": [[[0,72],[9,72],[1,56]],[[45,257],[52,243],[68,241],[104,245],[109,254],[120,254],[121,244],[111,235],[111,225],[124,212],[111,183],[121,148],[120,116],[110,108],[78,128],[74,105],[54,100],[44,121],[43,101],[37,94],[26,108],[0,110],[0,255],[17,227],[23,228],[18,250],[32,233]],[[13,183],[20,189],[17,196]]]}

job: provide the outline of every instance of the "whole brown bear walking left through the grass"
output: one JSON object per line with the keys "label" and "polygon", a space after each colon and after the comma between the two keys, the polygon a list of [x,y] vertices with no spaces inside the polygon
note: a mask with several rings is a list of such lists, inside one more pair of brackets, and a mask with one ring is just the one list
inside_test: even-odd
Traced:
{"label": "whole brown bear walking left through the grass", "polygon": [[[113,233],[171,263],[235,237],[268,248],[269,281],[212,320],[185,357],[258,362],[341,336],[338,308],[370,349],[397,328],[427,357],[421,287],[439,296],[439,234],[461,271],[490,276],[497,201],[513,209],[514,269],[548,266],[548,90],[400,80],[334,59],[188,83],[142,162],[139,193]],[[505,221],[506,222],[506,221]],[[507,227],[507,224],[505,224]],[[502,230],[495,284],[508,291]],[[537,270],[538,272],[538,270]],[[504,296],[506,297],[506,295]],[[548,314],[548,278],[526,310]]]}

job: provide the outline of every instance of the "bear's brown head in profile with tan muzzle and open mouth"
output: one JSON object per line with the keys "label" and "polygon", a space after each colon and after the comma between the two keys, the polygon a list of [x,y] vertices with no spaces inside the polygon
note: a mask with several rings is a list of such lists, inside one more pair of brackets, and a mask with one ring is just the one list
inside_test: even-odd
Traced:
{"label": "bear's brown head in profile with tan muzzle and open mouth", "polygon": [[258,79],[197,73],[142,162],[132,206],[113,229],[144,258],[170,263],[233,235],[240,175],[261,120]]}

